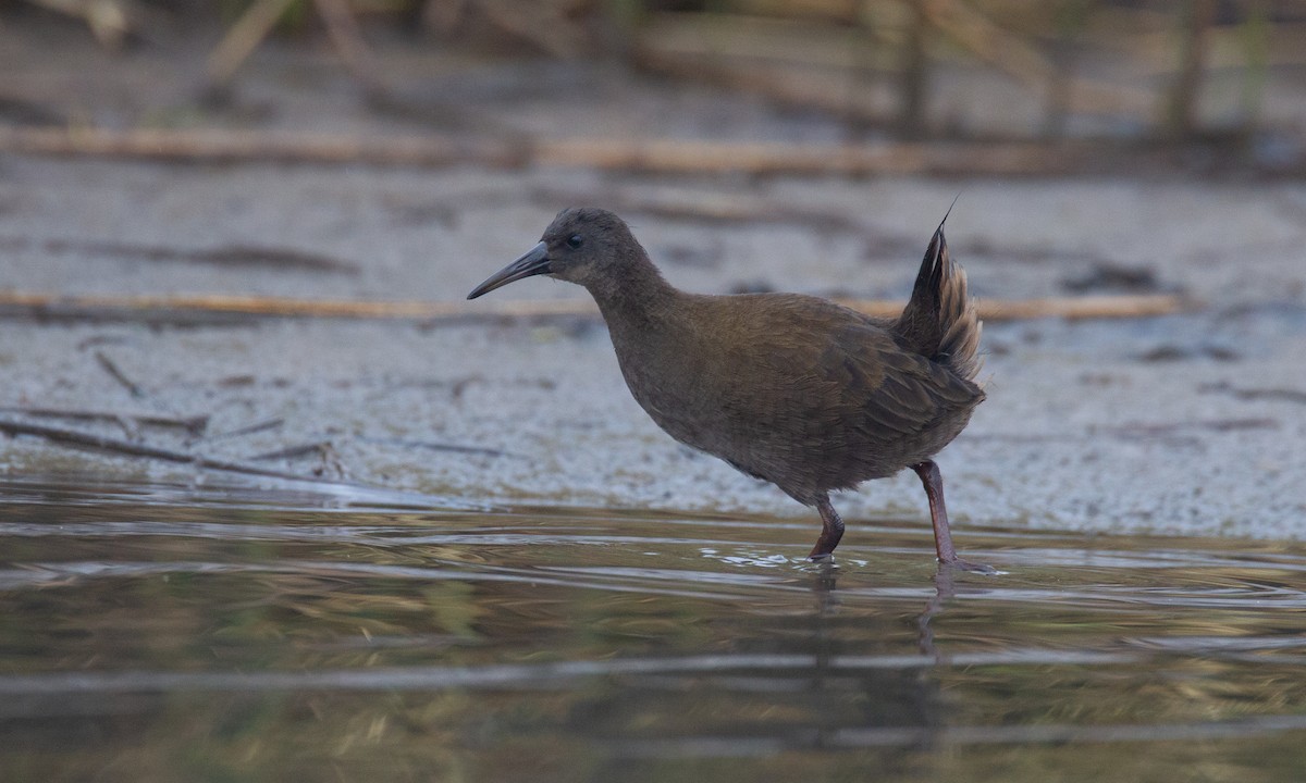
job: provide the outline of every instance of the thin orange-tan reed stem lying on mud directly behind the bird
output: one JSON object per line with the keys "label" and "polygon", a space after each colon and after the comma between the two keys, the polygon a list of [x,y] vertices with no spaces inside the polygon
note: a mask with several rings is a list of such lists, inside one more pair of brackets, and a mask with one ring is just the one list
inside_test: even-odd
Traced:
{"label": "thin orange-tan reed stem lying on mud directly behind the bird", "polygon": [[[892,299],[838,299],[868,316],[892,317],[902,303]],[[982,299],[987,321],[1025,318],[1140,318],[1194,309],[1196,303],[1177,294],[1122,296],[1051,296],[1046,299]],[[418,321],[483,321],[505,317],[597,317],[588,299],[465,301],[367,301],[287,299],[278,296],[63,296],[0,291],[0,316],[91,321],[195,320],[201,316],[259,316],[298,318],[409,318]]]}

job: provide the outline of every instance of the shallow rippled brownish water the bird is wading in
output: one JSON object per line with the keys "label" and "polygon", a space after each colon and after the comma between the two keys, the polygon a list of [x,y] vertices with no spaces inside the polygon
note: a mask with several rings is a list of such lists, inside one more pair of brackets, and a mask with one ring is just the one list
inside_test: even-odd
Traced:
{"label": "shallow rippled brownish water the bird is wading in", "polygon": [[1298,780],[1306,547],[0,485],[0,780]]}

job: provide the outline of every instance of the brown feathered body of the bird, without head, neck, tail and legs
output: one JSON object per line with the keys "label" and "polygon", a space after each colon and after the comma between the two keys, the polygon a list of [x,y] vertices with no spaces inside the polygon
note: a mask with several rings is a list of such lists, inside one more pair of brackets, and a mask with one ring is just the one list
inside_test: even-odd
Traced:
{"label": "brown feathered body of the bird, without head, neck, tail and legs", "polygon": [[673,437],[799,501],[927,459],[983,393],[895,322],[794,294],[680,294],[613,326],[632,394]]}

